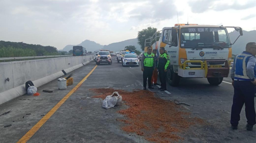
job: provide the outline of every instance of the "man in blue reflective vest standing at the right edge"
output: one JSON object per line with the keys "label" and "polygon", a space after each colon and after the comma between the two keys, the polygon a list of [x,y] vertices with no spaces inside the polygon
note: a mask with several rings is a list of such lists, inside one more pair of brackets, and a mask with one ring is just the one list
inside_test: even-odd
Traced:
{"label": "man in blue reflective vest standing at the right edge", "polygon": [[230,123],[234,130],[238,129],[240,113],[244,104],[247,119],[247,130],[253,130],[253,125],[256,124],[256,113],[254,107],[254,91],[256,85],[256,80],[254,78],[254,68],[256,63],[255,55],[256,43],[249,42],[246,44],[246,51],[236,56],[231,68],[234,96]]}

